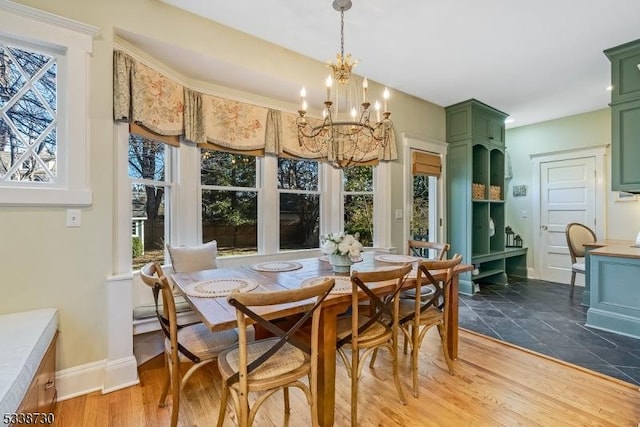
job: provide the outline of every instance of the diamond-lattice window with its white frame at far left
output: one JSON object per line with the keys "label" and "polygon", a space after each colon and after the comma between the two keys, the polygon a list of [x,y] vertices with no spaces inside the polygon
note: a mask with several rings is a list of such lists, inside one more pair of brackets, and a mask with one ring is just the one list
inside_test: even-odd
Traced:
{"label": "diamond-lattice window with its white frame at far left", "polygon": [[0,204],[89,205],[87,61],[97,28],[13,3],[0,11]]}

